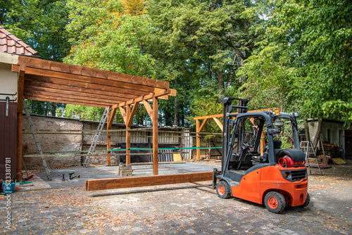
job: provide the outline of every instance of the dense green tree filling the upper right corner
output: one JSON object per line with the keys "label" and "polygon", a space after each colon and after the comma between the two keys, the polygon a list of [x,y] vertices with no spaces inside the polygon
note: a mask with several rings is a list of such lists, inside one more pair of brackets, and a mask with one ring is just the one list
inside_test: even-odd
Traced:
{"label": "dense green tree filling the upper right corner", "polygon": [[[287,77],[284,87],[288,87],[278,91],[282,93],[281,103],[306,117],[344,118],[351,122],[351,4],[347,0],[272,3],[275,11],[268,20],[263,47],[239,73],[248,76],[247,89],[256,89],[258,82],[270,86],[272,80],[265,74],[270,68],[271,77],[284,73]],[[263,61],[260,55],[270,48],[277,51],[267,54]],[[270,64],[275,65],[268,67]],[[259,72],[249,72],[251,68]],[[266,90],[260,90],[256,99],[265,99],[265,95]]]}

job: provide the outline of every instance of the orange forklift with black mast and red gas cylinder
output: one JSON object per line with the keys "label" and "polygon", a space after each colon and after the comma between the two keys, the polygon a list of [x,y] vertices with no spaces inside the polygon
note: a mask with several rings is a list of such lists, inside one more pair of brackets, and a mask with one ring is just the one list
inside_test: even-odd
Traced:
{"label": "orange forklift with black mast and red gas cylinder", "polygon": [[[234,100],[238,106],[232,105]],[[286,206],[306,207],[310,197],[306,156],[298,139],[298,112],[247,113],[249,100],[231,97],[222,103],[222,170],[213,171],[218,196],[265,204],[274,213]],[[234,108],[237,113],[232,113]],[[282,148],[283,130],[291,133],[291,148]]]}

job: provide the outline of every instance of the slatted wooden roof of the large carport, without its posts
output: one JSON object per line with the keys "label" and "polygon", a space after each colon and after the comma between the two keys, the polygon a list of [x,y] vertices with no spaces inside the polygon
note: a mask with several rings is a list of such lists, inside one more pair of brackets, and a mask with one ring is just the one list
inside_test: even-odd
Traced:
{"label": "slatted wooden roof of the large carport, without its posts", "polygon": [[[94,68],[68,65],[40,58],[18,56],[13,72],[25,66],[25,99],[84,106],[127,106],[158,96],[175,96],[169,83]],[[141,98],[143,97],[143,98]],[[137,100],[139,99],[139,100]]]}

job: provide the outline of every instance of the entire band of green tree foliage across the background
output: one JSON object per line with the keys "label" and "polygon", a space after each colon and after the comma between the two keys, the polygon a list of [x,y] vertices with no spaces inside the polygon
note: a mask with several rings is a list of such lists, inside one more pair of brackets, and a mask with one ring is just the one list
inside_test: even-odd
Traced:
{"label": "entire band of green tree foliage across the background", "polygon": [[[352,122],[351,12],[348,0],[8,0],[0,23],[44,59],[170,82],[163,125],[222,113],[221,96]],[[29,104],[91,120],[103,110]],[[150,122],[141,105],[134,123]]]}

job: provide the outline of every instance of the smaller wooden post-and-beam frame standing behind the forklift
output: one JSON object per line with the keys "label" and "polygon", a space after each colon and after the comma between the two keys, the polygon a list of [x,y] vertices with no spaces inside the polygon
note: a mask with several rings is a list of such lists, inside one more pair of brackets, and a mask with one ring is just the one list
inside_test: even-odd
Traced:
{"label": "smaller wooden post-and-beam frame standing behind the forklift", "polygon": [[[275,110],[277,110],[278,108],[275,108]],[[265,108],[265,109],[260,109],[260,110],[249,110],[248,113],[254,113],[254,112],[265,112],[265,111],[272,111],[270,108]],[[237,114],[236,113],[232,113],[232,114]],[[218,120],[218,118],[223,118],[223,114],[215,114],[215,115],[208,115],[208,116],[201,116],[201,117],[194,117],[193,119],[196,120],[196,147],[201,147],[201,136],[200,136],[200,132],[203,130],[203,127],[206,125],[206,123],[208,122],[208,120],[213,119],[216,124],[218,125],[218,127],[221,129],[221,131],[223,131],[223,126],[222,126],[222,122],[220,122],[220,120]],[[203,120],[201,122],[201,120]],[[253,120],[251,120],[253,122]],[[264,132],[262,133],[262,139],[260,139],[260,152],[262,152],[263,154],[263,149],[265,147],[265,141],[264,141]],[[196,150],[196,160],[200,160],[201,159],[201,150],[197,149]]]}

